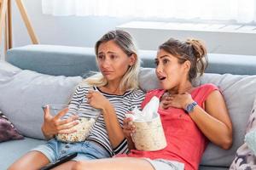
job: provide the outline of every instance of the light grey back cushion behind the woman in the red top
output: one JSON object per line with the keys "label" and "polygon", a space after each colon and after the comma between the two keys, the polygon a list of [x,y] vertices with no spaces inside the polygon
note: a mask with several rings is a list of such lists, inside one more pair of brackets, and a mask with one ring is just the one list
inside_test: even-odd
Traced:
{"label": "light grey back cushion behind the woman in the red top", "polygon": [[[156,83],[158,80],[154,75],[154,69],[143,69],[139,77],[140,86],[144,90],[160,88]],[[194,83],[199,85],[208,82],[217,85],[224,95],[234,127],[233,145],[230,150],[222,150],[214,144],[209,144],[202,157],[201,165],[229,167],[237,148],[243,143],[247,118],[256,94],[256,76],[207,73]]]}

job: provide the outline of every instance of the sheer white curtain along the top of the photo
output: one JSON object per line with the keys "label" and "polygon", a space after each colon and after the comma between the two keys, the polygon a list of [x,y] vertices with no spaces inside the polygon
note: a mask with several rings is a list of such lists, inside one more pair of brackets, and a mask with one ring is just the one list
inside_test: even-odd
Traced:
{"label": "sheer white curtain along the top of the photo", "polygon": [[43,14],[256,21],[256,0],[42,0]]}

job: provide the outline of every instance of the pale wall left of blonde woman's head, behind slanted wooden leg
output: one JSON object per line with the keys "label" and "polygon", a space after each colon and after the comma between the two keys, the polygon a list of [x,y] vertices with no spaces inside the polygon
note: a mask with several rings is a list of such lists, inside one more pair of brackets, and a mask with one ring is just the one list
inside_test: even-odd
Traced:
{"label": "pale wall left of blonde woman's head, behind slanted wooden leg", "polygon": [[[12,3],[14,47],[31,44],[20,11],[15,1]],[[42,14],[41,0],[23,0],[23,3],[42,44],[94,47],[96,40],[104,33],[131,20],[110,17],[54,17]],[[3,47],[1,54],[3,56]]]}

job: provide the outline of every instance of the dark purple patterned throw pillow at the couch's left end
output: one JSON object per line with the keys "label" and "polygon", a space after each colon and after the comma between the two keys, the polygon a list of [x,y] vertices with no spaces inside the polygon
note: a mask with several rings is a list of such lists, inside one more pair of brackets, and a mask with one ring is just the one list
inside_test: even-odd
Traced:
{"label": "dark purple patterned throw pillow at the couch's left end", "polygon": [[17,132],[15,126],[0,111],[0,142],[11,139],[23,139],[23,136]]}

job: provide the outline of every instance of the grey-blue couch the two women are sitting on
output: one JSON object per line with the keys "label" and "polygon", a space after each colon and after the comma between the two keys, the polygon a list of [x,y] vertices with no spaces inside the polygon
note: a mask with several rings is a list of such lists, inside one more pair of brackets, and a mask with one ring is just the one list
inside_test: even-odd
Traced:
{"label": "grey-blue couch the two women are sitting on", "polygon": [[[145,91],[159,87],[153,69],[155,54],[155,51],[139,51],[143,60],[140,85]],[[197,79],[195,85],[212,82],[221,89],[234,125],[234,144],[230,150],[209,144],[200,169],[228,169],[243,143],[253,107],[256,57],[209,54],[208,58],[207,74]],[[0,143],[0,169],[6,169],[26,151],[45,142],[40,131],[43,121],[40,106],[67,103],[81,77],[97,70],[93,48],[29,45],[10,49],[7,61],[10,64],[0,62],[0,110],[26,138]]]}

